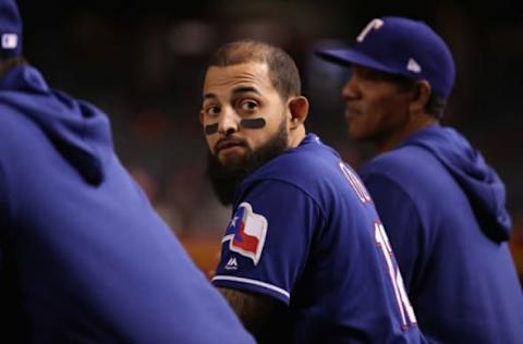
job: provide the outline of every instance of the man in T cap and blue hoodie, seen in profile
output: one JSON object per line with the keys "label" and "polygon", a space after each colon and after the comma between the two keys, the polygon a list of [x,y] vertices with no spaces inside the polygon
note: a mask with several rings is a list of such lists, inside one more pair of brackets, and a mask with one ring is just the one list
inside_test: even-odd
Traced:
{"label": "man in T cap and blue hoodie, seen in profile", "polygon": [[351,48],[317,54],[351,70],[341,91],[349,133],[380,151],[360,174],[427,340],[521,343],[504,185],[440,124],[455,77],[450,49],[423,22],[389,16],[370,21]]}

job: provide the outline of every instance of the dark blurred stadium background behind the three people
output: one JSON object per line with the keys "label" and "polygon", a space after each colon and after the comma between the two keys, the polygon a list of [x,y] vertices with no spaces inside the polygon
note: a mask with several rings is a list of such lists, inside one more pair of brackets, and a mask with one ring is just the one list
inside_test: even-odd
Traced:
{"label": "dark blurred stadium background behind the three people", "polygon": [[375,151],[346,135],[340,100],[346,75],[313,51],[352,44],[373,17],[425,21],[447,40],[458,67],[445,124],[464,133],[506,182],[511,248],[523,277],[523,13],[515,1],[192,0],[182,9],[180,1],[19,0],[19,5],[29,62],[54,88],[108,113],[122,162],[206,272],[230,217],[205,175],[198,112],[209,54],[238,38],[285,49],[313,105],[308,130],[357,168]]}

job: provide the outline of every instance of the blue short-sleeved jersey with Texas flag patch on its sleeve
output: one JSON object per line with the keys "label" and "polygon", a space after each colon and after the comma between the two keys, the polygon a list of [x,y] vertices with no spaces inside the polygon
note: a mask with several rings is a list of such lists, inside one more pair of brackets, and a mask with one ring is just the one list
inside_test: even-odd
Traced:
{"label": "blue short-sleeved jersey with Texas flag patch on its sleeve", "polygon": [[215,285],[288,305],[268,342],[421,341],[368,194],[315,135],[242,182],[222,242]]}

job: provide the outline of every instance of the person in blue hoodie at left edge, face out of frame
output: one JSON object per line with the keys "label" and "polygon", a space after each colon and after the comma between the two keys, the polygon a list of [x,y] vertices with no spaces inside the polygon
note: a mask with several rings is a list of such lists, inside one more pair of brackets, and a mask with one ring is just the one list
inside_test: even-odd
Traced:
{"label": "person in blue hoodie at left edge, face out of frame", "polygon": [[0,341],[254,343],[0,0]]}

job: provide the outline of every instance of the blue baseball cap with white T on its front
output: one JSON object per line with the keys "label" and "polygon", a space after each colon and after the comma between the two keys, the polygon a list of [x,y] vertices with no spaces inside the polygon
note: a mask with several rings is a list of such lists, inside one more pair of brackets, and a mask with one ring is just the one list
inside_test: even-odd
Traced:
{"label": "blue baseball cap with white T on its front", "polygon": [[425,23],[405,17],[384,16],[372,20],[346,49],[318,49],[327,61],[399,74],[411,79],[426,79],[433,91],[447,99],[455,79],[449,47]]}

